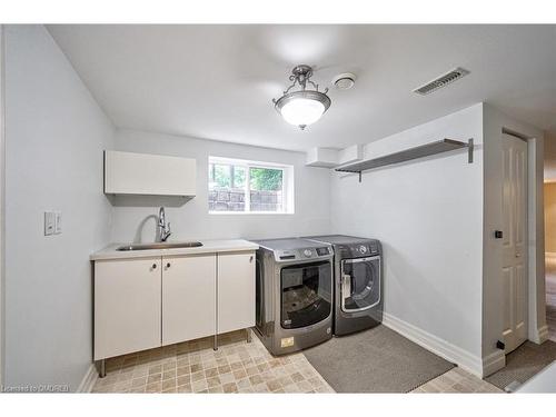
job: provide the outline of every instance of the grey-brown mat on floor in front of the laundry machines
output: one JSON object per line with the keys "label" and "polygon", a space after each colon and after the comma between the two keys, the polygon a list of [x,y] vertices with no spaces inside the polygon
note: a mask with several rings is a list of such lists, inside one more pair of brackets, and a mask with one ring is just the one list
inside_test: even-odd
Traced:
{"label": "grey-brown mat on floor in front of the laundry machines", "polygon": [[408,393],[454,368],[385,326],[304,350],[337,393]]}

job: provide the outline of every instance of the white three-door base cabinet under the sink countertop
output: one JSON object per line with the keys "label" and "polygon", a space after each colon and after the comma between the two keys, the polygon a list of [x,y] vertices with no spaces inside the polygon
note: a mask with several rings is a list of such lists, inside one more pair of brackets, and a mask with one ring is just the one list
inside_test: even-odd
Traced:
{"label": "white three-door base cabinet under the sink countertop", "polygon": [[255,251],[95,262],[95,360],[255,326]]}

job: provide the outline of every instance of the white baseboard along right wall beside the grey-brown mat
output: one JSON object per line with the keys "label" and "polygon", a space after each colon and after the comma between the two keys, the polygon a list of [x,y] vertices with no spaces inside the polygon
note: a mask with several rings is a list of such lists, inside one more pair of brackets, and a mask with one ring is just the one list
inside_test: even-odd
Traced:
{"label": "white baseboard along right wall beside the grey-brown mat", "polygon": [[396,332],[399,332],[401,336],[408,338],[425,349],[430,350],[441,358],[456,364],[468,373],[471,373],[479,378],[483,377],[484,364],[480,357],[474,356],[467,350],[454,346],[450,342],[387,312],[384,314],[383,325]]}

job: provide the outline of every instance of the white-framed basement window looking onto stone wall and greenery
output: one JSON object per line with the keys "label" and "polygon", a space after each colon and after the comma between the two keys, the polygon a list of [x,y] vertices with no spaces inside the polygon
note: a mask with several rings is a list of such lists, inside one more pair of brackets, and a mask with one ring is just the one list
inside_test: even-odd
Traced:
{"label": "white-framed basement window looking onto stone wall and greenery", "polygon": [[209,157],[209,214],[294,214],[294,167]]}

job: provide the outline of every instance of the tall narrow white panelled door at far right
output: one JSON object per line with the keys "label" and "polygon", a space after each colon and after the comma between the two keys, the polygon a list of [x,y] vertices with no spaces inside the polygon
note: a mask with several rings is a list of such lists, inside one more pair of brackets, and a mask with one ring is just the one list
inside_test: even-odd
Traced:
{"label": "tall narrow white panelled door at far right", "polygon": [[506,354],[527,339],[527,142],[503,138],[503,288]]}

